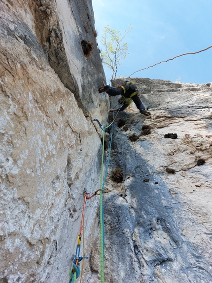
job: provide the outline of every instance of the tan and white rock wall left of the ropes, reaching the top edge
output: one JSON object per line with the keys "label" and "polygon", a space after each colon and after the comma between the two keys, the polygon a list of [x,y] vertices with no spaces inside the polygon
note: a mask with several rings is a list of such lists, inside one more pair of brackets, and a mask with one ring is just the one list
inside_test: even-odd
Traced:
{"label": "tan and white rock wall left of the ropes, reaching the top edge", "polygon": [[[2,0],[0,63],[0,282],[69,282],[109,109],[91,1]],[[89,255],[98,198],[86,208]]]}

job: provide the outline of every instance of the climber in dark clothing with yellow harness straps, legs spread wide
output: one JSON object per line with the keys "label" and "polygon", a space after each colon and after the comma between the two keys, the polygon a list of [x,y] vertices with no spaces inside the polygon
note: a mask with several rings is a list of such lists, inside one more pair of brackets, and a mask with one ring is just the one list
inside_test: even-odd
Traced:
{"label": "climber in dark clothing with yellow harness straps, legs spread wide", "polygon": [[109,85],[100,87],[99,93],[102,92],[106,92],[110,96],[121,95],[121,97],[118,99],[118,103],[122,105],[121,108],[110,109],[110,112],[123,111],[134,101],[141,114],[145,116],[151,115],[150,112],[145,110],[145,107],[139,98],[140,95],[136,89],[136,84],[133,81],[125,81],[124,86],[117,85],[117,88]]}

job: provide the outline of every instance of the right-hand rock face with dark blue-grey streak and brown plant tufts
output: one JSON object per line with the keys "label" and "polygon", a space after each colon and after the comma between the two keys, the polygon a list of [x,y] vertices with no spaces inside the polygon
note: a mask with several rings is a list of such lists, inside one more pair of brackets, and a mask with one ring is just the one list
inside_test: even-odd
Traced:
{"label": "right-hand rock face with dark blue-grey streak and brown plant tufts", "polygon": [[[151,118],[133,104],[116,118],[126,124],[115,122],[110,173],[122,168],[124,182],[105,187],[105,282],[210,283],[212,88],[133,81]],[[111,103],[117,108],[117,97]]]}

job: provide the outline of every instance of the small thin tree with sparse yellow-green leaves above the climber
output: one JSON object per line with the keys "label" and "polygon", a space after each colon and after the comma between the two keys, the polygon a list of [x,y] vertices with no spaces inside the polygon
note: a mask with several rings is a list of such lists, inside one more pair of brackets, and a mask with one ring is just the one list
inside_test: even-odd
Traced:
{"label": "small thin tree with sparse yellow-green leaves above the climber", "polygon": [[126,59],[128,54],[127,42],[123,42],[127,34],[132,32],[132,27],[124,31],[124,35],[121,36],[120,31],[115,31],[109,28],[107,25],[104,27],[104,33],[101,37],[101,43],[105,47],[105,50],[101,52],[101,58],[103,64],[105,64],[111,71],[112,76],[110,81],[116,78],[118,66],[120,66],[120,60]]}

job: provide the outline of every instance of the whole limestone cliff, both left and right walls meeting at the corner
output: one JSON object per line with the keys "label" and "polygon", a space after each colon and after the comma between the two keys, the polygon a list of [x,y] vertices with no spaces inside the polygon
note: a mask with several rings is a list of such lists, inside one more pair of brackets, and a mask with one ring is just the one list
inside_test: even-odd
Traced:
{"label": "whole limestone cliff, both left and right walls meeting at the corner", "polygon": [[[212,86],[135,81],[152,115],[132,105],[114,123],[105,283],[211,283]],[[0,283],[69,282],[83,190],[100,188],[92,120],[109,122],[104,82],[91,0],[1,0]],[[97,196],[85,207],[84,283],[100,282],[98,211]]]}

